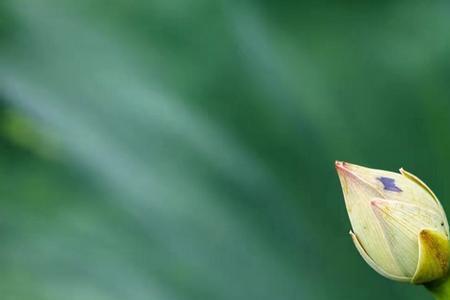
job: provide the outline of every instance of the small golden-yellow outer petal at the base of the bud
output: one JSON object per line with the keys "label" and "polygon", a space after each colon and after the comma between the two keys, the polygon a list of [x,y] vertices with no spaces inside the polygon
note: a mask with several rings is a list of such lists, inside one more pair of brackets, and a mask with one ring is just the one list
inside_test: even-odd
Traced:
{"label": "small golden-yellow outer petal at the base of the bud", "polygon": [[419,261],[412,283],[421,284],[439,279],[447,274],[448,238],[435,230],[423,229],[419,233]]}

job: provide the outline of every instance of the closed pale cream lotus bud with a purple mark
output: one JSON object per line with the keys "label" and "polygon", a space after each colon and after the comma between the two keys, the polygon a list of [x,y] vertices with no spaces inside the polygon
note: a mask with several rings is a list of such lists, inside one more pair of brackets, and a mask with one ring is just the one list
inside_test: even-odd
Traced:
{"label": "closed pale cream lotus bud with a purple mark", "polygon": [[445,212],[419,178],[336,162],[352,231],[364,260],[381,275],[415,284],[447,274]]}

